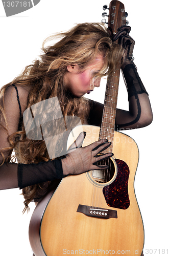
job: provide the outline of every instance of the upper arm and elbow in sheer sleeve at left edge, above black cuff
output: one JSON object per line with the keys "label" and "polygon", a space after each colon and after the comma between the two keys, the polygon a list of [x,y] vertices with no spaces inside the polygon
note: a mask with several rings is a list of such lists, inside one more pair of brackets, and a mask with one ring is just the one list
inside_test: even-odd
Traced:
{"label": "upper arm and elbow in sheer sleeve at left edge, above black cuff", "polygon": [[[26,109],[28,92],[27,90],[17,87],[19,94],[20,108],[18,104],[17,91],[13,86],[5,90],[4,98],[1,98],[0,104],[2,111],[4,111],[6,122],[2,111],[1,126],[0,126],[0,150],[10,147],[8,137],[18,131],[18,124],[20,115]],[[21,112],[21,113],[20,113]],[[6,127],[6,130],[4,129]],[[3,151],[4,158],[7,159],[11,155],[10,150]],[[18,165],[15,163],[3,163],[3,156],[0,154],[0,189],[18,187],[17,169]]]}

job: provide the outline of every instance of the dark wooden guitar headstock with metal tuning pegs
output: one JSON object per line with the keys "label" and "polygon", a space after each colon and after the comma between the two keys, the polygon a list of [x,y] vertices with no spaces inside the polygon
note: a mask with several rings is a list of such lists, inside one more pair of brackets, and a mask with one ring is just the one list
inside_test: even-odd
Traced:
{"label": "dark wooden guitar headstock with metal tuning pegs", "polygon": [[112,34],[115,34],[119,27],[128,24],[126,20],[128,14],[127,12],[125,12],[125,7],[123,3],[117,0],[113,0],[110,2],[109,8],[107,7],[107,5],[103,6],[103,10],[105,11],[106,9],[109,10],[109,15],[107,15],[106,12],[103,12],[102,16],[108,17],[108,23],[106,22],[106,19],[103,19],[102,22],[108,24],[108,28]]}

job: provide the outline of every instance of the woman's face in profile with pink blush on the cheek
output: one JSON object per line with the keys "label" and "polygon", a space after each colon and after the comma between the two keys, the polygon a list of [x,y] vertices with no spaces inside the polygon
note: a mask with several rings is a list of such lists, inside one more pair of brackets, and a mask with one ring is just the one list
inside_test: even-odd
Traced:
{"label": "woman's face in profile with pink blush on the cheek", "polygon": [[90,62],[84,71],[81,71],[79,66],[67,66],[68,72],[65,74],[65,83],[72,94],[81,97],[84,94],[89,94],[94,90],[94,87],[100,87],[100,78],[95,78],[95,74],[103,68],[103,56],[98,55],[95,60]]}

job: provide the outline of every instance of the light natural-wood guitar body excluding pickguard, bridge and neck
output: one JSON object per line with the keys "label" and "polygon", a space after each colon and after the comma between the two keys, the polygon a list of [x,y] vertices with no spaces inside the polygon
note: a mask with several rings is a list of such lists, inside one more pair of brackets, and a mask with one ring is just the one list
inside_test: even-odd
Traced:
{"label": "light natural-wood guitar body excluding pickguard, bridge and neck", "polygon": [[[82,127],[87,133],[83,146],[98,140],[100,127],[82,125],[81,129]],[[79,128],[77,126],[74,129],[77,136],[80,133]],[[68,143],[72,143],[71,138],[68,139]],[[57,189],[54,188],[55,193],[53,194],[53,190],[48,194],[48,199],[51,199],[47,205],[47,199],[44,198],[33,213],[29,236],[36,256],[63,255],[67,251],[75,253],[75,250],[81,254],[81,249],[89,251],[90,254],[95,254],[98,250],[98,255],[107,250],[120,255],[124,253],[121,254],[119,251],[141,255],[144,241],[143,224],[134,193],[138,148],[132,138],[115,132],[113,153],[115,159],[125,161],[130,169],[129,207],[119,209],[108,206],[103,195],[103,187],[106,185],[92,182],[89,172],[64,178]],[[111,180],[113,185],[115,178]],[[79,205],[93,205],[91,195],[94,197],[95,194],[100,195],[100,207],[116,211],[117,218],[94,218],[77,211]]]}

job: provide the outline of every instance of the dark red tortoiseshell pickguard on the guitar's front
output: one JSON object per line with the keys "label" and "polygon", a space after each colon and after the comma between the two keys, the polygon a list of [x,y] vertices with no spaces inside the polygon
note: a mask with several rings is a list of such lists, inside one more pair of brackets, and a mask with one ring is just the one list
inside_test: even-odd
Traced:
{"label": "dark red tortoiseshell pickguard on the guitar's front", "polygon": [[128,195],[129,167],[122,160],[115,159],[115,162],[117,164],[116,179],[103,188],[103,194],[110,207],[127,209],[130,205]]}

